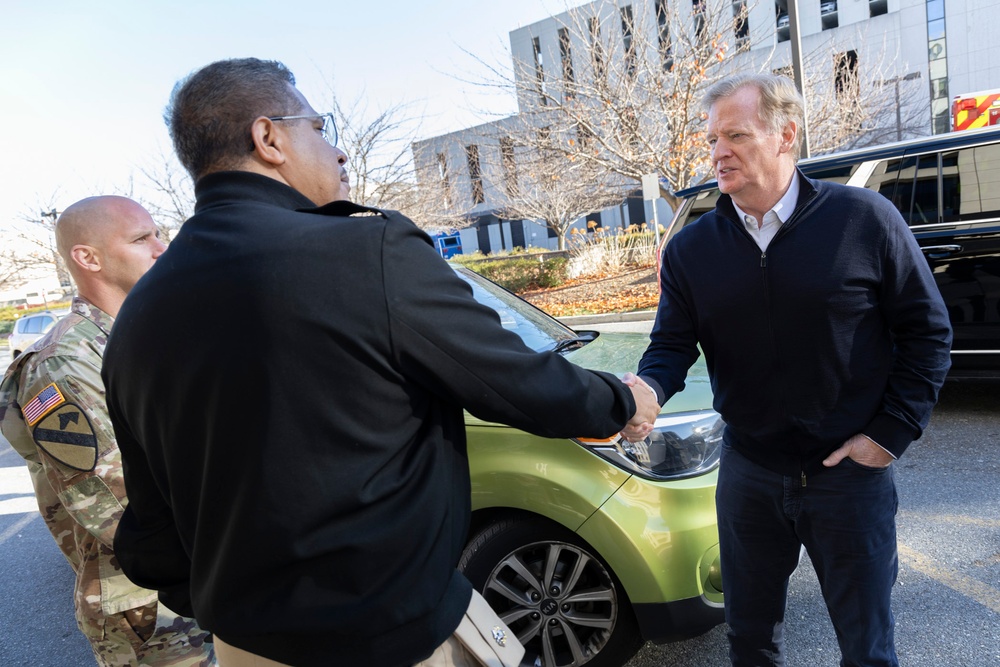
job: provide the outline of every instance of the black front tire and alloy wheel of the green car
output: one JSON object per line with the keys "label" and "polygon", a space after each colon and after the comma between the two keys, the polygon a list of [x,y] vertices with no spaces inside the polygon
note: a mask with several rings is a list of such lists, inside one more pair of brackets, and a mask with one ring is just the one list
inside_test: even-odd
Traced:
{"label": "black front tire and alloy wheel of the green car", "polygon": [[642,646],[617,577],[562,526],[495,521],[469,540],[458,567],[542,667],[621,667]]}

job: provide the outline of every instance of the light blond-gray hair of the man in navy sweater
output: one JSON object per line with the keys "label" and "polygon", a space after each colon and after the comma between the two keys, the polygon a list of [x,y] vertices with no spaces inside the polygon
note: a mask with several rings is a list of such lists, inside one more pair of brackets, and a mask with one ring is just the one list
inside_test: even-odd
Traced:
{"label": "light blond-gray hair of the man in navy sweater", "polygon": [[794,122],[797,132],[792,145],[792,155],[798,160],[802,152],[802,126],[805,121],[805,100],[795,87],[795,82],[777,74],[732,74],[712,84],[705,93],[704,105],[711,109],[719,100],[731,97],[743,88],[756,88],[760,93],[757,113],[768,129],[775,134],[789,122]]}

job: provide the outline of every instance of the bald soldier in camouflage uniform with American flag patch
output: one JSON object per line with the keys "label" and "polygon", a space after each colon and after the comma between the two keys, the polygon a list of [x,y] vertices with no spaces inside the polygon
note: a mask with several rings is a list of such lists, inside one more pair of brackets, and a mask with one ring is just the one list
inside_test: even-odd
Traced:
{"label": "bald soldier in camouflage uniform with American flag patch", "polygon": [[77,624],[109,667],[215,664],[209,633],[130,582],[112,551],[128,501],[101,360],[125,295],[165,249],[158,236],[124,197],[69,207],[56,242],[80,296],[0,383],[0,429],[27,461],[38,509],[76,573]]}

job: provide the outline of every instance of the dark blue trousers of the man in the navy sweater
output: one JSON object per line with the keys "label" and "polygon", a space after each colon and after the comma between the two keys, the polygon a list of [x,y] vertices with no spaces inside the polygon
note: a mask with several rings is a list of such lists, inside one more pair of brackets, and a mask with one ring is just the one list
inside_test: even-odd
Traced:
{"label": "dark blue trousers of the man in the navy sweater", "polygon": [[897,667],[890,609],[896,582],[892,466],[844,459],[800,476],[723,448],[716,507],[734,667],[781,666],[788,577],[805,545],[840,644],[842,667]]}

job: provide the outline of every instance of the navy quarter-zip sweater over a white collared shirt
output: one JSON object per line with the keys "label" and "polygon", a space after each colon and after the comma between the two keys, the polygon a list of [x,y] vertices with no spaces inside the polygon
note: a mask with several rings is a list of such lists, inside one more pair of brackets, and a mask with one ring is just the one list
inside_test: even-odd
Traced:
{"label": "navy quarter-zip sweater over a white collared shirt", "polygon": [[947,310],[899,212],[870,190],[796,178],[766,252],[727,195],[670,241],[639,364],[665,400],[700,344],[726,441],[783,475],[822,470],[858,433],[900,456],[951,363]]}

